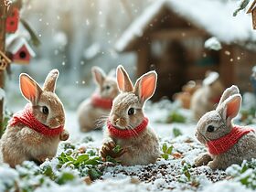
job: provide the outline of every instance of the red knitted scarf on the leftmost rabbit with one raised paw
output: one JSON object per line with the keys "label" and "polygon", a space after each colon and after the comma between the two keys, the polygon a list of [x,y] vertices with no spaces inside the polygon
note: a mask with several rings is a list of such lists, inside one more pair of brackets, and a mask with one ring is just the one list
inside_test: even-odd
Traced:
{"label": "red knitted scarf on the leftmost rabbit with one raised paw", "polygon": [[59,135],[64,130],[64,126],[51,129],[43,123],[40,123],[33,115],[32,105],[30,103],[27,103],[23,111],[16,112],[9,122],[11,126],[15,126],[17,123],[25,124],[30,129],[35,130],[37,133],[41,133],[47,136]]}

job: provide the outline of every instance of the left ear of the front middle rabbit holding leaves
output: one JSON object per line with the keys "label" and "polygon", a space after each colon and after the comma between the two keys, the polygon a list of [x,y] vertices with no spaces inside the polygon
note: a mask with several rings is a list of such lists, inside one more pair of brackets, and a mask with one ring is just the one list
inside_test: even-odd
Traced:
{"label": "left ear of the front middle rabbit holding leaves", "polygon": [[133,83],[122,65],[118,66],[116,69],[116,80],[120,91],[133,91]]}

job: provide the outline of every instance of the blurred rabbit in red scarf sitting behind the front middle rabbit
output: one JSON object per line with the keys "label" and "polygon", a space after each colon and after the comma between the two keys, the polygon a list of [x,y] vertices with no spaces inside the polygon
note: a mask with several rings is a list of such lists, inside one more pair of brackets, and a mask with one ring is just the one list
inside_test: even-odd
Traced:
{"label": "blurred rabbit in red scarf sitting behind the front middle rabbit", "polygon": [[112,100],[119,91],[114,78],[99,67],[91,68],[92,77],[98,85],[98,89],[91,98],[82,101],[78,108],[78,120],[81,132],[90,132],[93,129],[101,128],[101,119],[108,116],[112,108]]}

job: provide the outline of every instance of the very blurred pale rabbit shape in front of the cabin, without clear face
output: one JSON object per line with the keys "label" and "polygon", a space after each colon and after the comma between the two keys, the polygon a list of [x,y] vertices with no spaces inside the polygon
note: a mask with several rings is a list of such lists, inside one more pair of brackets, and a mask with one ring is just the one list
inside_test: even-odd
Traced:
{"label": "very blurred pale rabbit shape in front of the cabin, without clear face", "polygon": [[218,72],[208,72],[206,76],[202,87],[193,94],[191,99],[190,109],[196,120],[199,120],[206,112],[215,109],[221,93],[225,90],[219,80]]}

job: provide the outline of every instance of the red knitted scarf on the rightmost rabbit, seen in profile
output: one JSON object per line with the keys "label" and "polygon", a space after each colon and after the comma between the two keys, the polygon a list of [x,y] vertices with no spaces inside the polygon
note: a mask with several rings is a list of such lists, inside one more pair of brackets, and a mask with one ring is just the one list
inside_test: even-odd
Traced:
{"label": "red knitted scarf on the rightmost rabbit, seen in profile", "polygon": [[234,144],[237,144],[240,138],[250,132],[254,132],[252,128],[235,126],[232,131],[219,139],[209,141],[207,143],[208,153],[211,155],[220,155],[227,151]]}

